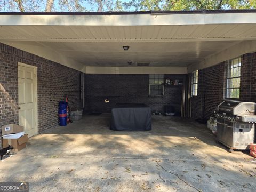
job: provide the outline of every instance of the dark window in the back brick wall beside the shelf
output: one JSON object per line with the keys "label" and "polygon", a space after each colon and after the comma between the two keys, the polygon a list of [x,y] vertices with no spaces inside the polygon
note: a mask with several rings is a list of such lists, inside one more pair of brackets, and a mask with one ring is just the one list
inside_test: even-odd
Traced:
{"label": "dark window in the back brick wall beside the shelf", "polygon": [[164,75],[149,75],[149,95],[164,95]]}

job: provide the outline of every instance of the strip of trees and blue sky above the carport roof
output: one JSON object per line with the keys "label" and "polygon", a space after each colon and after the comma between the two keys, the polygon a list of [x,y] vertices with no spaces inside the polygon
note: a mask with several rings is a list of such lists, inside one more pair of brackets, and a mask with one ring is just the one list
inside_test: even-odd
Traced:
{"label": "strip of trees and blue sky above the carport roof", "polygon": [[[49,4],[51,6],[46,7]],[[47,8],[47,9],[46,9]],[[255,9],[256,0],[0,0],[0,11],[149,11]]]}

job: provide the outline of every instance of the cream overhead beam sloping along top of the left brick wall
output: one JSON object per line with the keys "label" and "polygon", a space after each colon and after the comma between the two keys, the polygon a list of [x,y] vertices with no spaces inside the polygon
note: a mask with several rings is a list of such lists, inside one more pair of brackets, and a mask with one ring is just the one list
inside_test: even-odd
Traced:
{"label": "cream overhead beam sloping along top of the left brick wall", "polygon": [[83,71],[83,68],[84,68],[84,65],[82,63],[79,63],[73,59],[67,58],[65,55],[62,55],[52,49],[47,49],[45,47],[40,47],[36,45],[23,44],[22,42],[1,41],[1,43],[38,55],[39,57],[48,59],[53,62],[57,62],[63,66],[67,66],[69,68],[72,68],[78,71]]}

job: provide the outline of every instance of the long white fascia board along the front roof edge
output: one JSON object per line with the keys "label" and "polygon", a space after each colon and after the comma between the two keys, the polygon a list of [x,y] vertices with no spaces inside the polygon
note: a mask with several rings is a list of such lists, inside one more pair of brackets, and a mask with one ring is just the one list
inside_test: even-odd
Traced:
{"label": "long white fascia board along the front roof edge", "polygon": [[256,23],[256,13],[0,15],[0,26],[157,26]]}

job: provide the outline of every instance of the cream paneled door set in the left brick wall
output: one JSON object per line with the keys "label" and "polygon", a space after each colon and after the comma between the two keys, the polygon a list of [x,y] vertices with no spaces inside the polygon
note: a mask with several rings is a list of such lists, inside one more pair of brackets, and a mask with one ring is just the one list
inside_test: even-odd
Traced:
{"label": "cream paneled door set in the left brick wall", "polygon": [[19,125],[29,137],[37,134],[37,79],[36,68],[18,64]]}

